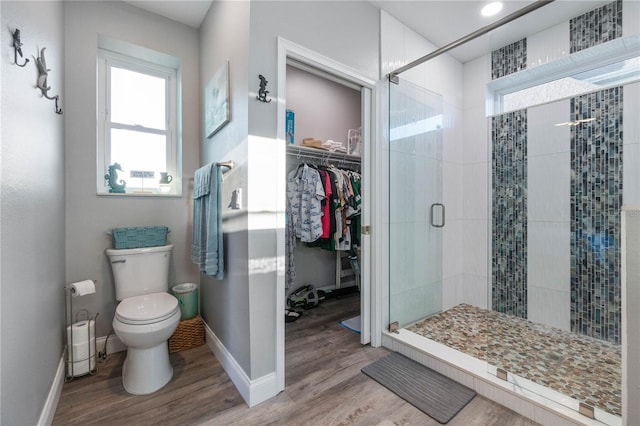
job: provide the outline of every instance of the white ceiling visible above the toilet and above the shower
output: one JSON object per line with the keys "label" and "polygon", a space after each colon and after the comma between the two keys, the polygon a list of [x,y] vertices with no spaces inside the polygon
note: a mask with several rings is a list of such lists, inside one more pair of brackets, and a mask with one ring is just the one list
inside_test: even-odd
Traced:
{"label": "white ceiling visible above the toilet and above the shower", "polygon": [[[489,3],[489,0],[370,0],[369,2],[403,22],[436,47],[442,47],[534,1],[505,0],[502,12],[491,18],[480,16],[480,9]],[[467,62],[610,2],[611,0],[556,0],[485,36],[451,50],[449,54],[461,62]],[[127,1],[127,3],[199,28],[212,1],[142,0]],[[427,53],[429,52],[425,52],[425,55]]]}

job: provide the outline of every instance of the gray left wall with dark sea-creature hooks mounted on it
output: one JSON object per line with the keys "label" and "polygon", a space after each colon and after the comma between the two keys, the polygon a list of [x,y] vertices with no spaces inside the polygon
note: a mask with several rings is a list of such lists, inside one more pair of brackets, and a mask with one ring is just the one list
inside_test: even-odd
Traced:
{"label": "gray left wall with dark sea-creature hooks mounted on it", "polygon": [[[34,56],[46,47],[50,95],[64,108],[60,2],[0,2],[3,60],[0,158],[0,424],[36,424],[63,350],[64,115],[35,89]],[[13,65],[19,28],[30,62]]]}

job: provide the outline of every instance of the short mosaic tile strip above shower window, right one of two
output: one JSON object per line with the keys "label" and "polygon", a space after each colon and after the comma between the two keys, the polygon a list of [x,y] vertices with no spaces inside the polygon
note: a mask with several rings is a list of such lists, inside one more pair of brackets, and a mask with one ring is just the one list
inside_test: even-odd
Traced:
{"label": "short mosaic tile strip above shower window, right one of two", "polygon": [[570,53],[622,37],[622,0],[569,20]]}

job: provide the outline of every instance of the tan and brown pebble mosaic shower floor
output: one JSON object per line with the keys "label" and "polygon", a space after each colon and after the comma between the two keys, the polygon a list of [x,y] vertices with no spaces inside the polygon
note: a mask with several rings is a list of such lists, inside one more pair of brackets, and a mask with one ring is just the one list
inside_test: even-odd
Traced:
{"label": "tan and brown pebble mosaic shower floor", "polygon": [[407,330],[607,413],[622,413],[618,345],[467,304]]}

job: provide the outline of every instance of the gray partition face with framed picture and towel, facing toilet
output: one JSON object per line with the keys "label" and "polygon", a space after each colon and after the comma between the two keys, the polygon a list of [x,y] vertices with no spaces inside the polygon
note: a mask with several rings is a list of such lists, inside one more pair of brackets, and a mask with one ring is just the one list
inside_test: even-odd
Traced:
{"label": "gray partition face with framed picture and towel, facing toilet", "polygon": [[[200,27],[200,88],[204,91],[216,70],[229,62],[231,121],[211,139],[202,129],[200,165],[233,160],[234,170],[225,173],[223,229],[225,276],[222,281],[201,276],[201,314],[204,321],[249,377],[251,346],[249,330],[247,129],[249,50],[249,2],[214,2]],[[200,102],[204,110],[204,99]],[[202,120],[204,126],[204,119]],[[229,192],[242,188],[241,210],[229,211]]]}

